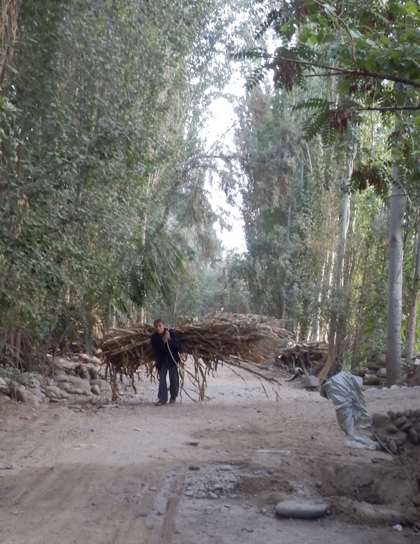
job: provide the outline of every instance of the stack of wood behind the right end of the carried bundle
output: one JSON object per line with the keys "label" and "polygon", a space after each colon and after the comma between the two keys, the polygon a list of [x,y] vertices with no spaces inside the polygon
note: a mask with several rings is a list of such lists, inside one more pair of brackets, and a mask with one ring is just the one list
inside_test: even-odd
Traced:
{"label": "stack of wood behind the right end of the carried bundle", "polygon": [[305,376],[318,376],[327,362],[328,353],[327,342],[298,342],[276,350],[274,362],[290,373],[300,368]]}

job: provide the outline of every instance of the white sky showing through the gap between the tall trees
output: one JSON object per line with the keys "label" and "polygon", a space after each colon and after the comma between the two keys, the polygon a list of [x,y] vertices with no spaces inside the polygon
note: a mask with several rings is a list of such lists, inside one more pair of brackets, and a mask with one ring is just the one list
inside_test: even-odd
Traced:
{"label": "white sky showing through the gap between the tall trees", "polygon": [[[234,90],[236,95],[243,94],[243,84],[241,87],[236,85]],[[225,98],[218,98],[211,104],[210,111],[211,119],[209,119],[206,134],[207,147],[211,147],[214,142],[222,139],[222,143],[233,150],[233,124],[236,122],[236,116],[232,104]],[[228,130],[229,128],[231,130]],[[246,244],[239,203],[238,206],[234,207],[227,204],[225,193],[218,189],[216,179],[212,186],[207,182],[206,188],[211,193],[210,201],[213,209],[217,211],[217,208],[222,208],[226,211],[228,215],[227,222],[232,226],[232,230],[229,232],[226,230],[221,231],[217,222],[213,225],[218,237],[222,240],[224,249],[242,253],[246,249]]]}

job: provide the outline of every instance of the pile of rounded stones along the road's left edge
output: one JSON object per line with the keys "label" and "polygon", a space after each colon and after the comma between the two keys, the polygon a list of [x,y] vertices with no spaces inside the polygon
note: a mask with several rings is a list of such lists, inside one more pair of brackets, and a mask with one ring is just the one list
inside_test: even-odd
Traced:
{"label": "pile of rounded stones along the road's left edge", "polygon": [[65,402],[70,396],[111,396],[111,385],[85,360],[55,358],[47,378],[32,373],[3,376],[0,391],[18,402],[39,406],[45,402]]}

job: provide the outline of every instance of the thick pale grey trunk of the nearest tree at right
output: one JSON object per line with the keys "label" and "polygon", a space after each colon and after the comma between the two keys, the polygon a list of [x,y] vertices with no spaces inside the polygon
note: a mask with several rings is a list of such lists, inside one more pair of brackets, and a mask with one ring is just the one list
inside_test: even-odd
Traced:
{"label": "thick pale grey trunk of the nearest tree at right", "polygon": [[[392,175],[398,179],[398,168]],[[390,206],[390,239],[388,271],[388,313],[386,338],[387,386],[391,387],[401,376],[401,316],[403,294],[403,214],[405,196],[399,186],[392,188]]]}

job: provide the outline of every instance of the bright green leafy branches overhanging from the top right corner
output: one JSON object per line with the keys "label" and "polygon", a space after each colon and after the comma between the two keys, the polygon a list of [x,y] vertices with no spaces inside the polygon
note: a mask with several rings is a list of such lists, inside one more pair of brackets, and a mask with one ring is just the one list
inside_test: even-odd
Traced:
{"label": "bright green leafy branches overhanging from the top right corner", "polygon": [[365,108],[397,113],[401,128],[393,138],[394,160],[412,173],[417,153],[408,149],[410,128],[418,124],[419,10],[396,1],[347,0],[341,11],[313,0],[280,6],[267,11],[256,39],[270,31],[281,45],[272,54],[264,48],[247,51],[247,56],[262,60],[252,82],[259,81],[255,73],[271,71],[274,86],[292,90],[305,86],[309,77],[334,76],[336,97],[333,103],[318,103],[318,111],[306,122],[307,137],[327,135],[325,126],[343,134],[350,122],[363,121]]}

